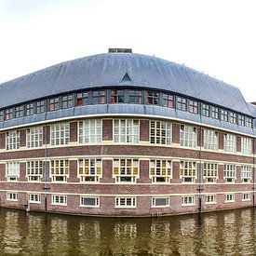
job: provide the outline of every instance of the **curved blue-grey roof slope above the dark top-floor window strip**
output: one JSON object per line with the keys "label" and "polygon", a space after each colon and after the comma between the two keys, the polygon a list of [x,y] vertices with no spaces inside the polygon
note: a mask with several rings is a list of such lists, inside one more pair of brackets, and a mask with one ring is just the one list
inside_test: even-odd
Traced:
{"label": "curved blue-grey roof slope above the dark top-floor window strip", "polygon": [[[131,81],[122,78],[128,74]],[[183,65],[134,53],[66,61],[0,86],[0,108],[83,88],[158,88],[251,115],[240,90]]]}

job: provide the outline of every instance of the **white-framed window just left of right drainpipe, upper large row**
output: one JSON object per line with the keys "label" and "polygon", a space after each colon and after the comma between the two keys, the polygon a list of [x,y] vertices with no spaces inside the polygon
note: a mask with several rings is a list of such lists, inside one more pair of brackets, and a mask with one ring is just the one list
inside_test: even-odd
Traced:
{"label": "white-framed window just left of right drainpipe, upper large row", "polygon": [[181,125],[180,129],[180,144],[185,147],[197,146],[197,132],[196,128],[191,126]]}

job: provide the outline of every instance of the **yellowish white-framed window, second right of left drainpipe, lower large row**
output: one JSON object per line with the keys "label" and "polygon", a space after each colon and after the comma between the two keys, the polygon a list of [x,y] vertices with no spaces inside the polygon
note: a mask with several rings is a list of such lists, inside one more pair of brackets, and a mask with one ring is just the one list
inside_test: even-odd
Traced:
{"label": "yellowish white-framed window, second right of left drainpipe, lower large row", "polygon": [[80,182],[100,182],[101,175],[101,159],[78,159],[78,178],[80,178]]}

